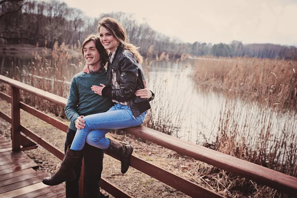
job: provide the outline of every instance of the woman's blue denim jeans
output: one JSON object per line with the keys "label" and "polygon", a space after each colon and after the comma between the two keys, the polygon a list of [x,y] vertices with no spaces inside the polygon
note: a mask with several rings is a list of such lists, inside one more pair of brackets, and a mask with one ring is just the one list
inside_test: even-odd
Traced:
{"label": "woman's blue denim jeans", "polygon": [[88,144],[107,149],[109,139],[104,135],[110,130],[136,127],[144,123],[147,112],[134,118],[129,106],[115,104],[107,112],[93,114],[84,117],[85,129],[77,130],[73,142],[72,150],[82,150],[85,142]]}

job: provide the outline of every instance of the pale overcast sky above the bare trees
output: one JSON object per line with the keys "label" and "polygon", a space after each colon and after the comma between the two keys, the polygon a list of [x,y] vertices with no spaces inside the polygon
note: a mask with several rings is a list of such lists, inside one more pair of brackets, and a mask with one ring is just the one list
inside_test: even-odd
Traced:
{"label": "pale overcast sky above the bare trees", "polygon": [[134,13],[184,42],[297,45],[297,0],[61,0],[88,16]]}

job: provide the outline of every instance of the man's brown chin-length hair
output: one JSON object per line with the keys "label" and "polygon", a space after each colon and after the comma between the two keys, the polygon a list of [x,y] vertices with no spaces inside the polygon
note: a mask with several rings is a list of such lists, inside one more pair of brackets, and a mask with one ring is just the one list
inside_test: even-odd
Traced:
{"label": "man's brown chin-length hair", "polygon": [[99,37],[98,34],[90,34],[84,40],[84,42],[82,44],[82,53],[83,53],[83,56],[84,56],[84,47],[85,47],[86,43],[88,43],[90,41],[94,41],[95,46],[96,46],[96,49],[98,50],[99,55],[100,55],[101,63],[102,63],[102,65],[105,65],[106,64],[106,60],[108,58],[108,54],[107,54],[107,51],[102,46],[102,44],[100,42],[100,37]]}

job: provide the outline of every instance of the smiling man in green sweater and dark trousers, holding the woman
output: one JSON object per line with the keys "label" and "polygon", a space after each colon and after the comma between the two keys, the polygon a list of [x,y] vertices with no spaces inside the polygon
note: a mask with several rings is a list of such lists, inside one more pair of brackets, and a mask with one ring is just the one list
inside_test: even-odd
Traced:
{"label": "smiling man in green sweater and dark trousers, holding the woman", "polygon": [[[82,53],[90,73],[76,74],[70,85],[69,97],[65,106],[65,114],[70,120],[65,141],[65,153],[68,145],[73,141],[77,129],[84,128],[83,117],[91,114],[105,112],[110,108],[111,101],[91,90],[93,85],[106,84],[107,71],[104,67],[107,52],[100,43],[97,35],[89,35],[82,44]],[[146,87],[146,85],[145,85]],[[150,98],[152,93],[148,88],[138,90],[137,96]],[[99,181],[102,172],[103,150],[85,144],[82,155],[74,167],[76,179],[66,182],[66,197],[79,197],[79,178],[82,157],[85,160],[85,188],[87,198],[99,198]]]}

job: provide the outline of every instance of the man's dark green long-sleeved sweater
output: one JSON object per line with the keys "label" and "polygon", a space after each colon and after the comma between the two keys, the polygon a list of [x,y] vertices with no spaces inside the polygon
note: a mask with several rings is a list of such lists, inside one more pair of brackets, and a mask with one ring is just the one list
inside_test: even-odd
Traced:
{"label": "man's dark green long-sleeved sweater", "polygon": [[92,85],[106,85],[106,69],[100,73],[76,74],[70,85],[69,97],[65,106],[65,114],[70,120],[69,128],[76,131],[75,121],[79,116],[88,116],[106,112],[110,108],[110,99],[100,96],[91,90]]}

